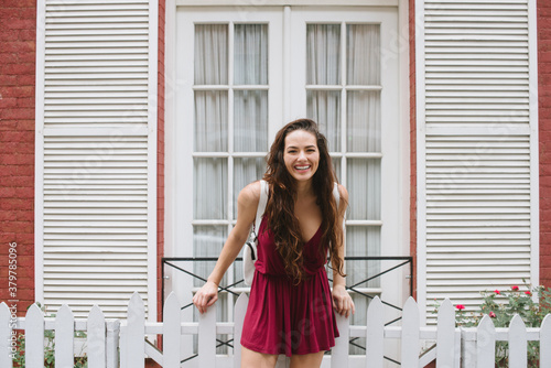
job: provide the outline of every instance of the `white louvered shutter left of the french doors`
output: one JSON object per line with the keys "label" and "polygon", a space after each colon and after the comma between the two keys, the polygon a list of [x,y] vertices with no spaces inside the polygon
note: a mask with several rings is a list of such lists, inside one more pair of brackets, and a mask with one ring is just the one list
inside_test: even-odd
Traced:
{"label": "white louvered shutter left of the french doors", "polygon": [[35,286],[48,311],[125,317],[138,291],[154,316],[155,17],[149,0],[39,1]]}

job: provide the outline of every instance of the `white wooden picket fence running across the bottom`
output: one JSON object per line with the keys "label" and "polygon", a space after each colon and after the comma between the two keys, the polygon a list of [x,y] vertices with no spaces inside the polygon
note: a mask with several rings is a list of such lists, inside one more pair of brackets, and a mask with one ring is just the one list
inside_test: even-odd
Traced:
{"label": "white wooden picket fence running across the bottom", "polygon": [[[164,323],[145,321],[142,299],[134,293],[128,306],[126,321],[106,321],[101,311],[94,306],[87,320],[75,320],[71,309],[62,306],[55,318],[45,318],[42,311],[33,304],[24,318],[12,318],[6,303],[0,304],[0,367],[12,367],[11,336],[12,327],[24,329],[26,368],[43,368],[44,331],[55,331],[56,367],[73,367],[75,350],[75,331],[86,332],[89,368],[139,368],[144,367],[144,357],[150,356],[163,367],[181,367],[181,338],[185,335],[198,335],[198,356],[184,367],[239,367],[241,326],[247,310],[248,297],[241,294],[235,307],[235,323],[217,323],[216,306],[201,315],[198,323],[182,323],[180,303],[171,294],[164,305]],[[385,326],[382,303],[378,297],[367,311],[367,325],[348,325],[348,320],[337,315],[341,337],[325,356],[322,367],[370,367],[382,368],[385,365],[385,344],[389,339],[400,339],[400,360],[404,368],[424,367],[436,359],[436,367],[494,367],[495,345],[497,340],[509,342],[509,367],[527,366],[527,342],[540,340],[540,367],[551,367],[551,322],[548,315],[541,328],[526,328],[522,320],[514,317],[509,328],[495,328],[491,318],[485,316],[476,328],[456,328],[455,311],[446,300],[439,310],[436,326],[420,326],[419,309],[410,297],[404,307],[401,326]],[[15,326],[12,326],[12,325]],[[234,335],[234,354],[216,355],[216,334]],[[163,353],[145,344],[147,335],[163,335]],[[352,337],[365,337],[365,356],[349,355],[348,340]],[[422,340],[436,343],[435,349],[420,356]],[[278,367],[289,365],[289,359],[281,357]]]}

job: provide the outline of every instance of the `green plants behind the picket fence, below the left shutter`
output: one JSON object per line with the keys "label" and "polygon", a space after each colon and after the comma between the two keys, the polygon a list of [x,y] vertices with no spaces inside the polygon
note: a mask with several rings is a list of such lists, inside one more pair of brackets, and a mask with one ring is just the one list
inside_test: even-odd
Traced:
{"label": "green plants behind the picket fence, below the left shutter", "polygon": [[[36,303],[42,312],[45,312],[45,307]],[[47,314],[46,317],[55,317],[55,314]],[[82,338],[86,337],[86,333],[83,331],[76,331],[75,337]],[[18,332],[17,338],[17,349],[12,356],[13,367],[25,367],[25,335],[23,332]],[[86,355],[75,357],[75,368],[86,368],[88,367],[88,359]],[[44,331],[44,368],[55,367],[55,332],[52,329]]]}

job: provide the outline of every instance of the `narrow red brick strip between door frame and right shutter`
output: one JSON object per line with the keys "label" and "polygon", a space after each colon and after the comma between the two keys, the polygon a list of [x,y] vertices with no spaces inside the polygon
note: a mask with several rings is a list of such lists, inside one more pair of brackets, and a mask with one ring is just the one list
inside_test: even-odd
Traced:
{"label": "narrow red brick strip between door frame and right shutter", "polygon": [[417,299],[417,121],[415,121],[415,0],[409,1],[410,21],[410,256],[413,257],[413,297]]}

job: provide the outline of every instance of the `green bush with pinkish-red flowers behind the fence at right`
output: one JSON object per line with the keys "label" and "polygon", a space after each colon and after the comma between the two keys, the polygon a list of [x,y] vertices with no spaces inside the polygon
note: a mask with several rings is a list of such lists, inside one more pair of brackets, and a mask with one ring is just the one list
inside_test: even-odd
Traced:
{"label": "green bush with pinkish-red flowers behind the fence at right", "polygon": [[[538,299],[534,301],[533,295]],[[483,303],[479,311],[466,312],[463,304],[455,305],[455,323],[457,326],[476,327],[484,315],[488,315],[496,327],[509,327],[518,314],[526,327],[540,327],[547,314],[551,313],[551,291],[543,286],[522,288],[512,285],[509,290],[482,292]],[[435,310],[440,305],[435,304]],[[528,367],[539,367],[539,342],[528,342]],[[508,343],[496,342],[496,367],[508,367]]]}

